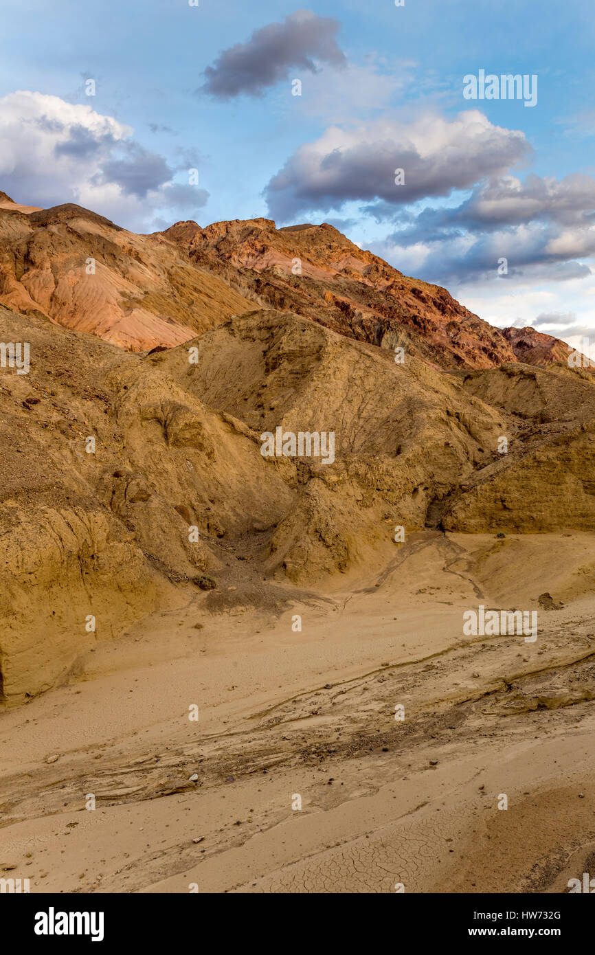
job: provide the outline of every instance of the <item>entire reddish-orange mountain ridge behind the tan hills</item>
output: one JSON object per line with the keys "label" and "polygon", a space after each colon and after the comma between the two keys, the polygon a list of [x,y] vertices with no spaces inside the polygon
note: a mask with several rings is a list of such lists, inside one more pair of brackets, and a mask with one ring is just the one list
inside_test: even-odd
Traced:
{"label": "entire reddish-orange mountain ridge behind the tan hills", "polygon": [[536,329],[491,326],[329,223],[188,220],[140,235],[75,203],[39,209],[6,193],[0,304],[138,351],[176,347],[257,305],[441,368],[545,366],[570,352]]}

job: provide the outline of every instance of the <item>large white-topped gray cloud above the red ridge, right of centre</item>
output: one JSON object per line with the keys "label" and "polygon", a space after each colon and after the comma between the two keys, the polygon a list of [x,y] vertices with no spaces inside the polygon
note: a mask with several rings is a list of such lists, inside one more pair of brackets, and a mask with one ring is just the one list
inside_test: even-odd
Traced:
{"label": "large white-topped gray cloud above the red ridge, right of centre", "polygon": [[[287,159],[268,182],[266,201],[281,221],[358,200],[372,202],[366,211],[381,218],[400,205],[498,176],[530,152],[521,132],[494,126],[477,110],[450,121],[425,114],[408,124],[331,126]],[[402,184],[395,184],[396,169],[403,170]]]}

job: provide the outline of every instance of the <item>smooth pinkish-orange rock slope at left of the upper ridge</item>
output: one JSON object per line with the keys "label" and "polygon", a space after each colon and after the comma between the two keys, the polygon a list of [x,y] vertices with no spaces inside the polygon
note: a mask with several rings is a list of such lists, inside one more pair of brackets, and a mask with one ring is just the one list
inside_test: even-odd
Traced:
{"label": "smooth pinkish-orange rock slope at left of the upper ridge", "polygon": [[180,345],[250,305],[160,234],[136,235],[72,203],[19,206],[4,193],[0,304],[133,351]]}

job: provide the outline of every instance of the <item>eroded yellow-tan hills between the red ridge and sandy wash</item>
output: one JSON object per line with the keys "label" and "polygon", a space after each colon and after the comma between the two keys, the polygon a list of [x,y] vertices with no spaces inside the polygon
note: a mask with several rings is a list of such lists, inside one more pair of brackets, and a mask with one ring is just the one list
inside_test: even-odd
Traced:
{"label": "eroded yellow-tan hills between the red ridge and sandy wash", "polygon": [[[272,309],[146,356],[4,308],[0,340],[31,353],[0,380],[10,701],[197,585],[214,609],[332,589],[386,562],[396,527],[595,528],[584,371],[399,364]],[[332,433],[334,459],[263,456],[277,428]]]}

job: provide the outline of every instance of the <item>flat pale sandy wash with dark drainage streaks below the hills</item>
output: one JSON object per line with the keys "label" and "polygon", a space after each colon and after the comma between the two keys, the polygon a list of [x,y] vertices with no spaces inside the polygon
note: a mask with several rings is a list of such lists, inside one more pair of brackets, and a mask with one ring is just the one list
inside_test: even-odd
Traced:
{"label": "flat pale sandy wash with dark drainage streaks below the hills", "polygon": [[[324,595],[188,586],[0,714],[2,875],[33,892],[565,891],[595,842],[594,567],[591,534],[426,531]],[[538,640],[463,637],[478,603],[537,609]]]}

